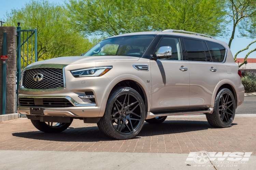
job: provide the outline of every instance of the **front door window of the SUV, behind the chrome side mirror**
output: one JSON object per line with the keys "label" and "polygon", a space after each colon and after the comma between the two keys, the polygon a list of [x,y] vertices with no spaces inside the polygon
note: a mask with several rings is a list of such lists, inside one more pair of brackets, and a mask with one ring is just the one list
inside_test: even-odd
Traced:
{"label": "front door window of the SUV, behind the chrome side mirror", "polygon": [[174,37],[163,37],[161,42],[156,48],[156,51],[160,47],[169,46],[172,48],[172,57],[168,58],[167,60],[182,60],[182,53],[181,53],[181,46],[180,46],[180,39]]}

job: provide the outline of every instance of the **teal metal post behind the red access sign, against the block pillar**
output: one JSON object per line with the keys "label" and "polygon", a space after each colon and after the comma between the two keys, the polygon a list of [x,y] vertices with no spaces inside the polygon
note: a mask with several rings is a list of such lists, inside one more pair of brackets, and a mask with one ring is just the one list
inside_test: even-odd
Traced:
{"label": "teal metal post behind the red access sign, against the block pillar", "polygon": [[[3,55],[7,55],[7,34],[3,33]],[[2,77],[2,88],[3,88],[3,96],[2,96],[2,114],[6,113],[6,60],[3,59],[3,77]]]}

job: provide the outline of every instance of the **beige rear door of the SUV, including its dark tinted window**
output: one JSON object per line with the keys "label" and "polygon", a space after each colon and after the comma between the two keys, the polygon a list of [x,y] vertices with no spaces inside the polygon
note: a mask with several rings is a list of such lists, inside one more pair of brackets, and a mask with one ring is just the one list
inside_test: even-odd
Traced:
{"label": "beige rear door of the SUV, including its dark tinted window", "polygon": [[219,82],[217,66],[212,62],[205,41],[183,38],[189,70],[190,108],[208,108]]}

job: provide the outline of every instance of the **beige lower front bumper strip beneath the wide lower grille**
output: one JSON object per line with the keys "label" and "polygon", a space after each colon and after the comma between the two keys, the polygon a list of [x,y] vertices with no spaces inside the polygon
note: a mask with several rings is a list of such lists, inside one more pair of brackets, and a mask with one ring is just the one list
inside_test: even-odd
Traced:
{"label": "beige lower front bumper strip beneath the wide lower grille", "polygon": [[[61,116],[61,117],[98,117],[100,113],[99,106],[73,106],[73,107],[42,107],[44,116]],[[42,116],[30,113],[30,107],[18,105],[19,114]]]}

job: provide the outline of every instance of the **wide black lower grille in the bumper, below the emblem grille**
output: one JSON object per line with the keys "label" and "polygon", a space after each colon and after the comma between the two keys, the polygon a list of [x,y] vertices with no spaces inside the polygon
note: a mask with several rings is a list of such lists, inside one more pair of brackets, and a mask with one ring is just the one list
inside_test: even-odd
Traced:
{"label": "wide black lower grille in the bumper, below the emblem grille", "polygon": [[73,104],[65,98],[19,98],[19,104],[21,106],[73,106]]}

